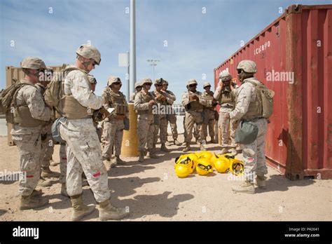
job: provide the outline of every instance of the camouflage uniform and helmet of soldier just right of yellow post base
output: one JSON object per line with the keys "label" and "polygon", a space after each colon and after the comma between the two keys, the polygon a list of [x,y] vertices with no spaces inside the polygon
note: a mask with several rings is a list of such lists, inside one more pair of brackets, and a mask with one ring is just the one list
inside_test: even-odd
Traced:
{"label": "camouflage uniform and helmet of soldier just right of yellow post base", "polygon": [[[151,79],[143,79],[141,84],[151,83]],[[148,104],[153,100],[151,93],[142,89],[135,96],[134,109],[137,111],[137,134],[139,136],[139,153],[144,154],[146,149],[153,154],[153,133],[154,133],[154,118],[152,113],[152,106]]]}

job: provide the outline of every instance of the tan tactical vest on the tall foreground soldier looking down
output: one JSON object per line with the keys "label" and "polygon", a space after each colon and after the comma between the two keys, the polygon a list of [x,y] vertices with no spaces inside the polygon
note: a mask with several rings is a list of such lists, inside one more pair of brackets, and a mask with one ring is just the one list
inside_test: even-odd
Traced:
{"label": "tan tactical vest on the tall foreground soldier looking down", "polygon": [[[88,82],[89,89],[91,90],[88,75],[85,72],[83,72],[83,74],[85,74],[85,79]],[[83,107],[78,102],[78,100],[76,100],[73,97],[73,95],[64,95],[61,102],[62,102],[63,116],[66,118],[81,119],[81,118],[91,118],[92,117],[94,110],[87,108],[87,107]]]}

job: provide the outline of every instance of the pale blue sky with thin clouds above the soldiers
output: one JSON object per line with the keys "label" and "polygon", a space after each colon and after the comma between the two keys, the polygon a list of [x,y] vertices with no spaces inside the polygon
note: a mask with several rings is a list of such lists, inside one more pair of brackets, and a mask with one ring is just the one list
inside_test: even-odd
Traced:
{"label": "pale blue sky with thin clouds above the soldiers", "polygon": [[[212,83],[214,68],[277,19],[291,4],[331,4],[325,0],[136,0],[137,81],[153,79],[146,60],[160,60],[154,78],[169,81],[181,102],[186,81],[198,90]],[[130,0],[1,0],[0,89],[6,86],[6,66],[19,67],[27,56],[46,65],[72,64],[76,49],[91,43],[102,62],[90,74],[101,95],[108,76],[123,81],[118,53],[130,50]]]}

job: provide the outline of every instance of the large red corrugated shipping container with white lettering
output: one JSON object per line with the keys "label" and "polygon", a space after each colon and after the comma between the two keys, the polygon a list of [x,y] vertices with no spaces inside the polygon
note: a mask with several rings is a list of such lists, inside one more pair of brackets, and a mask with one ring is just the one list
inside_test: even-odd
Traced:
{"label": "large red corrugated shipping container with white lettering", "polygon": [[214,85],[241,60],[275,91],[266,158],[289,179],[332,178],[332,5],[289,6],[214,69]]}

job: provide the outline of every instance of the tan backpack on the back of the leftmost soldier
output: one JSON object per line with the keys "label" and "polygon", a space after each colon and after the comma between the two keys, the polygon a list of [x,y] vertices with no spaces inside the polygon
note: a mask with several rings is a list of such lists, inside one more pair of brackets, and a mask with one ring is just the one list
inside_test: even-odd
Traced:
{"label": "tan backpack on the back of the leftmost soldier", "polygon": [[11,107],[15,107],[13,98],[18,90],[25,85],[34,86],[31,83],[19,82],[17,79],[13,78],[13,84],[0,92],[0,114],[6,114],[6,121],[8,123],[13,122],[12,116],[10,116],[12,114]]}

